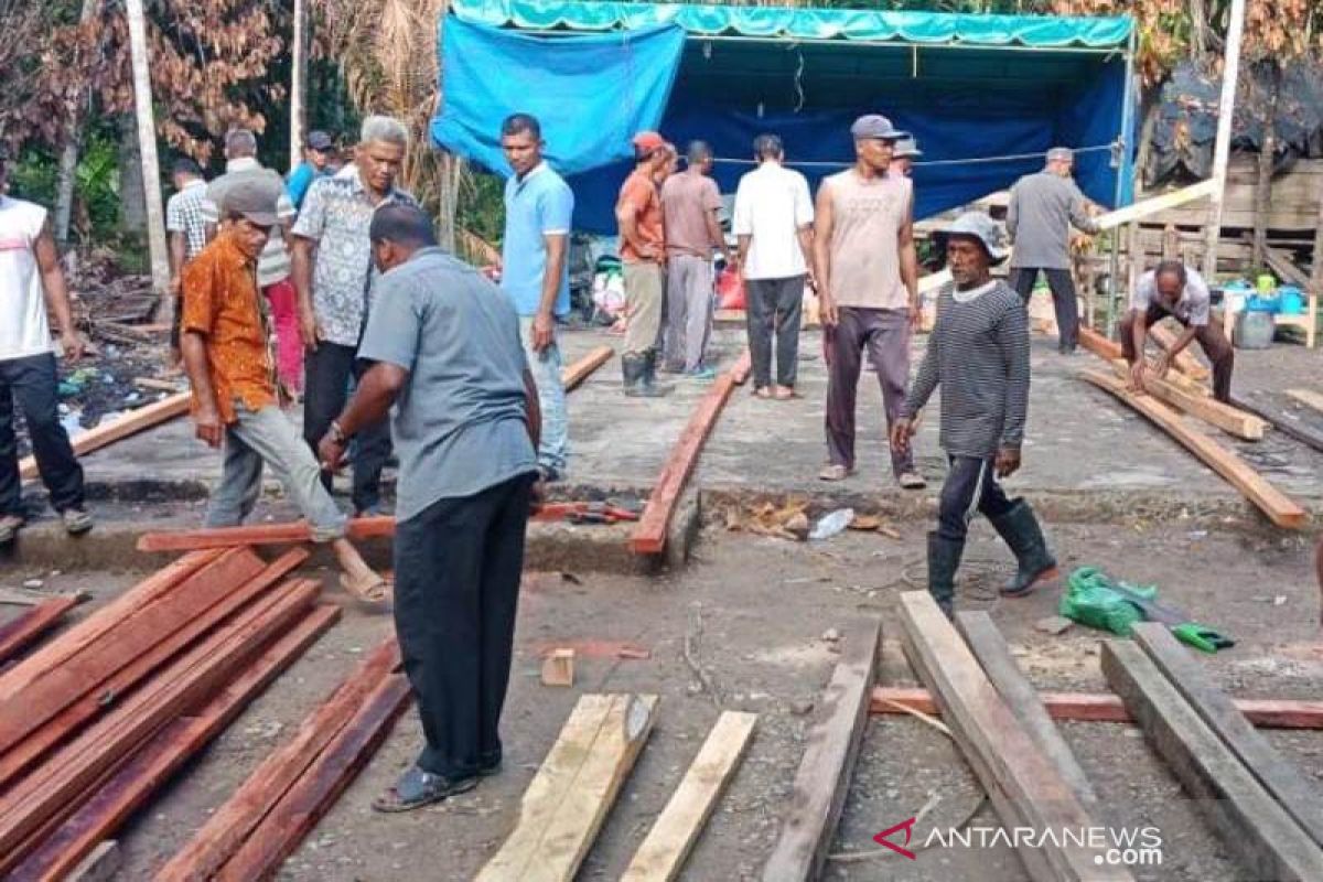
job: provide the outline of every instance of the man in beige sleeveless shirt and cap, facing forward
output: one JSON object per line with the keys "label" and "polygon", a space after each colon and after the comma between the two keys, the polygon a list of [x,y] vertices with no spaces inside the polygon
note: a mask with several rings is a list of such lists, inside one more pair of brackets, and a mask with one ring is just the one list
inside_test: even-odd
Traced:
{"label": "man in beige sleeveless shirt and cap, facing forward", "polygon": [[[855,391],[864,349],[877,369],[886,424],[901,411],[909,381],[910,335],[918,325],[918,255],[914,251],[914,185],[892,175],[892,152],[906,136],[877,114],[849,130],[855,165],[818,188],[814,258],[827,336],[827,464],[818,473],[839,481],[855,471]],[[909,448],[892,450],[901,487],[921,489]]]}

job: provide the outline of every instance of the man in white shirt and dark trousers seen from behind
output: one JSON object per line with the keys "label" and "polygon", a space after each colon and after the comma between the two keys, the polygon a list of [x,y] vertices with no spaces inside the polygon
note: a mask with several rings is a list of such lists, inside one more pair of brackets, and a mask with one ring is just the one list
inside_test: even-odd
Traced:
{"label": "man in white shirt and dark trousers seen from behind", "polygon": [[[799,311],[804,284],[814,284],[814,202],[808,181],[782,167],[777,135],[753,141],[758,168],[740,179],[732,226],[740,242],[753,391],[759,398],[794,398],[799,364]],[[777,383],[771,382],[771,333],[777,332]]]}

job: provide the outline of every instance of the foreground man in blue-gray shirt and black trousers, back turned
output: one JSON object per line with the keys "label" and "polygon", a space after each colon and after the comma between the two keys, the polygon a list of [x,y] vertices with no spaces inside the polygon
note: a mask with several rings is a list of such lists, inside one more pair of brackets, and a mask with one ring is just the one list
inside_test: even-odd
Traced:
{"label": "foreground man in blue-gray shirt and black trousers, back turned", "polygon": [[318,450],[335,468],[390,411],[396,632],[426,746],[373,807],[404,812],[500,768],[541,414],[509,299],[437,247],[415,206],[377,209],[369,237],[384,272],[359,345],[372,366]]}

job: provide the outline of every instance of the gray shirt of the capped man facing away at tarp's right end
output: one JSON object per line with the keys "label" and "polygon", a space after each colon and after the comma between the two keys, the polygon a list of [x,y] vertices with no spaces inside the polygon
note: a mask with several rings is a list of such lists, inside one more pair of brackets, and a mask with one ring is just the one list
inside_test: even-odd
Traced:
{"label": "gray shirt of the capped man facing away at tarp's right end", "polygon": [[1084,209],[1084,193],[1069,177],[1025,175],[1011,188],[1005,230],[1015,239],[1011,267],[1070,268],[1070,225],[1097,233]]}

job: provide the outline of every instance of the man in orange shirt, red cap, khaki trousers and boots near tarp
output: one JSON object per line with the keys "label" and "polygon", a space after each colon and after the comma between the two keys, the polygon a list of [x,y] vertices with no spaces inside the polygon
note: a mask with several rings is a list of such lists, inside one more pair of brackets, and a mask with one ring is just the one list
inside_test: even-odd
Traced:
{"label": "man in orange shirt, red cap, khaki trousers and boots near tarp", "polygon": [[656,385],[658,337],[665,292],[662,270],[665,235],[662,231],[658,179],[669,164],[671,152],[656,132],[639,132],[634,136],[634,172],[626,179],[615,204],[620,261],[624,264],[624,301],[630,316],[620,370],[626,395],[656,398],[671,391]]}

